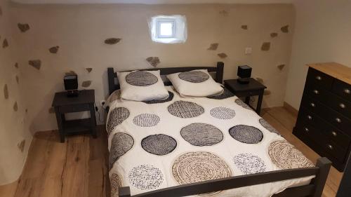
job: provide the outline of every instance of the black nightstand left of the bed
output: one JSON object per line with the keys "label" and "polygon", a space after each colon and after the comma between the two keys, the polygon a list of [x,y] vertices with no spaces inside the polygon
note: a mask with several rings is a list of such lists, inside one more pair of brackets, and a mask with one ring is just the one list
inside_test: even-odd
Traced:
{"label": "black nightstand left of the bed", "polygon": [[[65,135],[91,133],[96,137],[94,90],[79,90],[78,97],[67,97],[67,92],[55,93],[53,107],[55,107],[60,141],[65,142]],[[91,117],[66,121],[65,113],[90,111]]]}

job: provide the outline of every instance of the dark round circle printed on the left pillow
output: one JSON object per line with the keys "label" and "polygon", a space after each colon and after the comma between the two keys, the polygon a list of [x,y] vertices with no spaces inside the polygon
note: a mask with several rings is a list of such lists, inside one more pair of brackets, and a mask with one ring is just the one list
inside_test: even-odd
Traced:
{"label": "dark round circle printed on the left pillow", "polygon": [[154,74],[146,71],[135,71],[127,74],[126,82],[132,86],[151,86],[159,79]]}

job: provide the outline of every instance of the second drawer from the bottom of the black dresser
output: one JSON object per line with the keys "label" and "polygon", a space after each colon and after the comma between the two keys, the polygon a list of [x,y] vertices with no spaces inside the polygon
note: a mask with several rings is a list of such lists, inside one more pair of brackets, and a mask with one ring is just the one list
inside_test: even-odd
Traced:
{"label": "second drawer from the bottom of the black dresser", "polygon": [[[311,119],[309,118],[309,116],[311,116]],[[343,133],[338,128],[331,125],[331,123],[327,123],[322,118],[320,118],[314,113],[311,113],[310,111],[301,111],[301,114],[299,114],[298,123],[312,125],[314,128],[317,128],[322,133],[324,133],[324,135],[328,137],[328,139],[332,140],[333,142],[336,142],[336,144],[339,144],[340,147],[347,149],[350,145],[350,134],[347,135]]]}

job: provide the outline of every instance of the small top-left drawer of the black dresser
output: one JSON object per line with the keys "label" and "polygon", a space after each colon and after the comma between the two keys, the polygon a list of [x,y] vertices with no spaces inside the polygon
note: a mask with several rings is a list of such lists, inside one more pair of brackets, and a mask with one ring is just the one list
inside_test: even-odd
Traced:
{"label": "small top-left drawer of the black dresser", "polygon": [[308,69],[306,83],[314,83],[317,86],[330,90],[333,84],[333,77],[328,74],[317,71],[316,69]]}

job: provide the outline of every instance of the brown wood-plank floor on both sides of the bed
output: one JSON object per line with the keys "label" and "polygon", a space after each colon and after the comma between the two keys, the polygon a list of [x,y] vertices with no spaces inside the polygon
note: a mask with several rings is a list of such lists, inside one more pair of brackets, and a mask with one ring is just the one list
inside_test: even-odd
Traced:
{"label": "brown wood-plank floor on both sides of the bed", "polygon": [[[319,156],[292,134],[296,116],[284,107],[263,109],[261,116],[315,163]],[[0,197],[109,196],[107,136],[103,127],[98,131],[98,139],[76,136],[66,143],[59,142],[55,131],[37,133],[22,176],[0,186]],[[323,196],[336,196],[341,177],[342,173],[331,168]]]}

